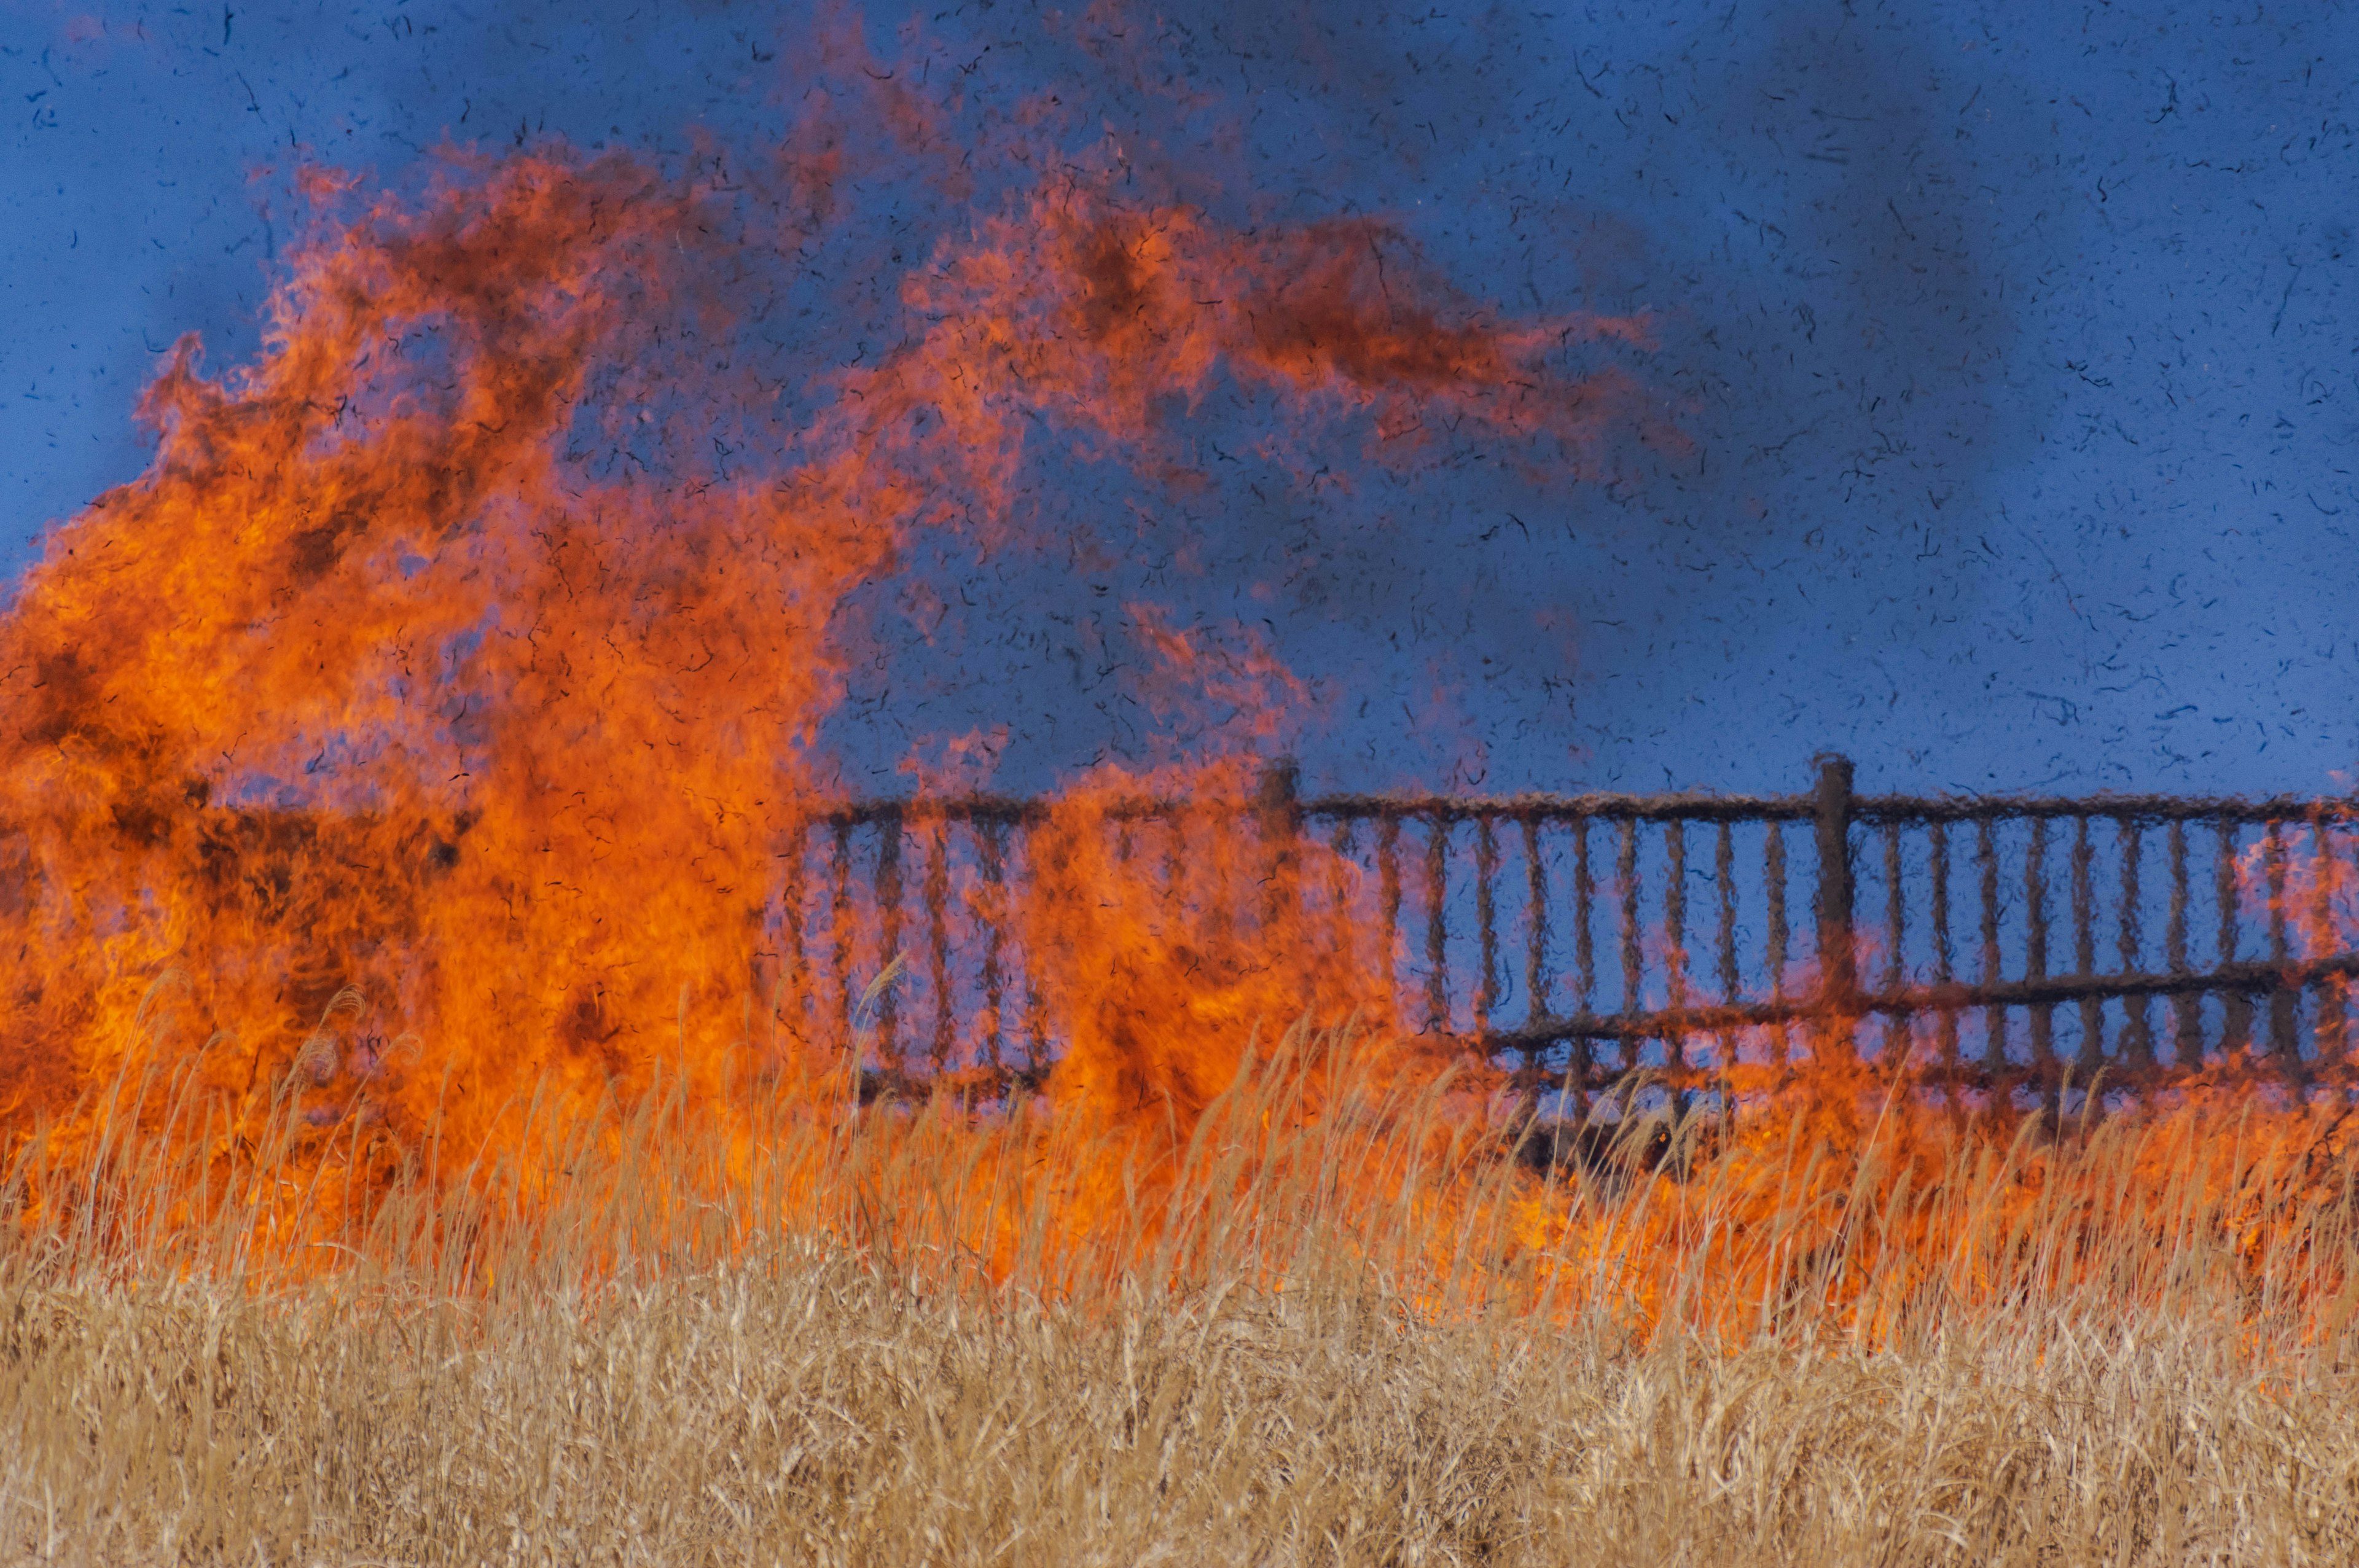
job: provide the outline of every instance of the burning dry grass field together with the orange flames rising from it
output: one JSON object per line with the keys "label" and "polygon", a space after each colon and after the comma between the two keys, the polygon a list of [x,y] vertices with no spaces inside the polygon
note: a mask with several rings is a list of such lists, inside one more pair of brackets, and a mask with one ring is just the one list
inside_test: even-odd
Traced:
{"label": "burning dry grass field together with the orange flames rising from it", "polygon": [[[1300,495],[1677,439],[1642,318],[845,80],[774,156],[314,170],[264,351],[182,342],[0,613],[0,1551],[2359,1556],[2333,1111],[1958,1120],[1819,1052],[1533,1160],[1397,1028],[1399,887],[1255,799],[1326,698],[1234,615],[1121,606],[1154,731],[1021,858],[920,766],[1005,736],[868,757],[925,788],[863,905],[840,752],[908,731],[854,719],[962,689],[960,573],[977,622],[1184,580],[1205,408]],[[1125,792],[1187,802],[1161,877]],[[911,1073],[847,1040],[903,828]]]}

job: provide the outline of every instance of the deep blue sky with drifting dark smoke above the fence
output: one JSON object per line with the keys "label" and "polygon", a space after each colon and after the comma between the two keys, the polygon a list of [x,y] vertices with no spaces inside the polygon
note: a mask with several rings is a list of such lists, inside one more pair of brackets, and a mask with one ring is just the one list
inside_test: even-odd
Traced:
{"label": "deep blue sky with drifting dark smoke above the fence", "polygon": [[[1687,453],[1222,493],[1184,599],[1319,681],[1314,780],[1783,790],[1824,747],[1871,790],[2350,771],[2347,7],[1283,9],[866,24],[929,90],[1076,94],[1182,172],[1217,146],[1257,215],[1385,215],[1505,314],[1651,314],[1630,370]],[[757,149],[816,71],[804,21],[0,0],[7,571],[139,474],[177,335],[252,354],[297,153],[399,184],[441,141]],[[854,222],[906,200],[863,186]],[[1064,479],[1076,514],[1111,495]],[[1019,714],[1017,788],[1121,750],[1095,599],[1038,573],[1036,634],[896,722]]]}

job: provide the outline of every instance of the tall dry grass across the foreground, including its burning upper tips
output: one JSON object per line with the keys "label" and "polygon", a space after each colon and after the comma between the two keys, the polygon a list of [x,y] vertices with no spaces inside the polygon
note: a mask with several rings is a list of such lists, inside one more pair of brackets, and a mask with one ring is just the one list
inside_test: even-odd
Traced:
{"label": "tall dry grass across the foreground, including its burning upper tips", "polygon": [[2359,1561],[2335,1113],[2059,1134],[1838,1082],[1543,1179],[1465,1082],[1359,1059],[1297,1030],[1163,1134],[675,1087],[389,1177],[295,1087],[116,1085],[9,1170],[0,1547]]}

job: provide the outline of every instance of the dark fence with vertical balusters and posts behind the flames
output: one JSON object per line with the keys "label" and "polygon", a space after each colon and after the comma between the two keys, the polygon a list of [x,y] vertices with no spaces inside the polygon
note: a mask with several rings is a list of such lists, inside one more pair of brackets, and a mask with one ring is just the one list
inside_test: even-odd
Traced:
{"label": "dark fence with vertical balusters and posts behind the flames", "polygon": [[[1821,757],[1781,797],[1305,797],[1274,764],[1250,802],[1104,816],[1121,861],[1175,894],[1224,818],[1250,818],[1272,865],[1316,846],[1352,872],[1330,901],[1373,922],[1406,1026],[1573,1096],[1828,1042],[1993,1094],[2100,1070],[2302,1085],[2347,1061],[2359,802],[1852,780]],[[854,976],[899,957],[873,1016],[889,1078],[960,1061],[1038,1078],[1059,1042],[1007,889],[1052,809],[965,795],[811,816],[776,905],[795,1004],[849,1028]]]}

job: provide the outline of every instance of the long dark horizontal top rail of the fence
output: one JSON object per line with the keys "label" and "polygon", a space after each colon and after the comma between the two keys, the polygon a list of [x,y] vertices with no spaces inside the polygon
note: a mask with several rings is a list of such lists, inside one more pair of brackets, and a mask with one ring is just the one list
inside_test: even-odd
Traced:
{"label": "long dark horizontal top rail of the fence", "polygon": [[[809,823],[859,828],[889,821],[965,821],[1024,825],[1045,821],[1052,799],[1017,795],[918,795],[903,799],[856,799],[821,806]],[[1116,821],[1151,821],[1180,811],[1262,811],[1269,799],[1187,799],[1125,795],[1102,802]],[[1814,795],[1312,795],[1288,797],[1302,816],[1330,821],[1420,818],[1465,821],[1647,821],[1647,823],[1807,823],[1819,811]],[[2114,818],[2149,823],[2286,823],[2305,818],[2359,823],[2359,797],[2272,795],[1854,795],[1847,818],[1861,825],[1993,823]]]}

